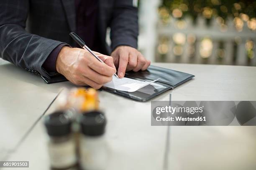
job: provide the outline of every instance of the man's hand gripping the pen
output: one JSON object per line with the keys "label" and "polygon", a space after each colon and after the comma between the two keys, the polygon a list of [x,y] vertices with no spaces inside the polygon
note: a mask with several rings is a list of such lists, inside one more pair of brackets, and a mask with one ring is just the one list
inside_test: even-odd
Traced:
{"label": "man's hand gripping the pen", "polygon": [[90,85],[99,89],[112,80],[116,69],[112,57],[95,53],[105,64],[87,50],[62,47],[56,60],[56,70],[76,85]]}

